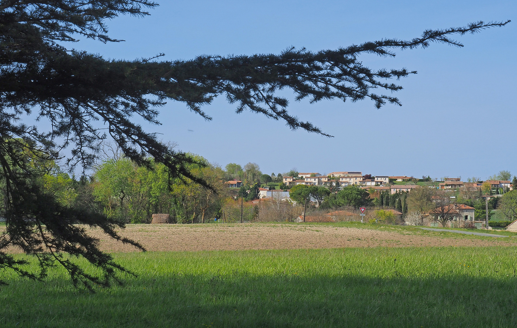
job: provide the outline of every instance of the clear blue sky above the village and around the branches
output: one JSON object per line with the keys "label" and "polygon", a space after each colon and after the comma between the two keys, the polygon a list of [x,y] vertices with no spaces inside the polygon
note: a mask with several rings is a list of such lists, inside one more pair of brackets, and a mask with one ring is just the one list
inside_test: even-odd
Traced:
{"label": "clear blue sky above the village and around the branches", "polygon": [[[279,53],[287,47],[336,49],[382,38],[409,39],[428,28],[512,20],[502,28],[458,36],[463,48],[433,44],[363,56],[371,68],[402,68],[396,93],[403,106],[373,102],[291,102],[288,110],[334,138],[291,131],[284,123],[245,112],[219,97],[206,122],[183,103],[161,108],[161,126],[146,126],[183,151],[225,166],[256,162],[264,173],[362,171],[373,175],[480,176],[517,174],[517,2],[515,1],[166,1],[145,18],[109,22],[125,42],[81,40],[74,48],[105,58],[166,59],[200,54]],[[378,127],[378,126],[381,127]],[[193,130],[193,131],[188,131]]]}

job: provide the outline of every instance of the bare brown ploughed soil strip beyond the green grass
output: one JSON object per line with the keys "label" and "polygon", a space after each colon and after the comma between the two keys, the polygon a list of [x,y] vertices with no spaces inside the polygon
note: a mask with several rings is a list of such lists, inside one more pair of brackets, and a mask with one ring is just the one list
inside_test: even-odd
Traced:
{"label": "bare brown ploughed soil strip beyond the green grass", "polygon": [[[388,228],[388,230],[390,230]],[[99,230],[107,251],[133,251]],[[147,250],[236,250],[406,246],[516,246],[517,238],[451,236],[429,231],[343,228],[320,225],[254,223],[234,225],[128,225],[121,235],[139,241]]]}

